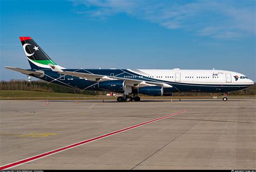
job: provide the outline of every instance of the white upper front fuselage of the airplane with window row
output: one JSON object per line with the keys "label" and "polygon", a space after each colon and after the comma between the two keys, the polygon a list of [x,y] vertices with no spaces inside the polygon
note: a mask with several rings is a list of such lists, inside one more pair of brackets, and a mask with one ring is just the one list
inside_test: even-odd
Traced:
{"label": "white upper front fuselage of the airplane with window row", "polygon": [[[224,70],[129,70],[143,77],[167,82],[182,82],[187,84],[221,84],[246,85],[254,84],[244,74]],[[140,71],[140,72],[137,72]],[[237,79],[235,78],[237,77]]]}

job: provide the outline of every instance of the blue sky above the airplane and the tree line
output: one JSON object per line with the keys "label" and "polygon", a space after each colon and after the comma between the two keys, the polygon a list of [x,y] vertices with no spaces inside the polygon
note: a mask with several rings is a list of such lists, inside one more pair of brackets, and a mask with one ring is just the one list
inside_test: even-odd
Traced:
{"label": "blue sky above the airplane and the tree line", "polygon": [[19,36],[66,68],[237,71],[256,81],[255,1],[0,1],[0,80],[26,79]]}

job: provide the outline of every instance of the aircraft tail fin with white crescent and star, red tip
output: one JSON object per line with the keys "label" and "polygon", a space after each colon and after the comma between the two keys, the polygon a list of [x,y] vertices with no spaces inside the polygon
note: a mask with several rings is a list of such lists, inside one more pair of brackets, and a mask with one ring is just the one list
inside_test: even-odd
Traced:
{"label": "aircraft tail fin with white crescent and star, red tip", "polygon": [[32,69],[51,68],[48,64],[57,65],[31,37],[19,37],[19,39]]}

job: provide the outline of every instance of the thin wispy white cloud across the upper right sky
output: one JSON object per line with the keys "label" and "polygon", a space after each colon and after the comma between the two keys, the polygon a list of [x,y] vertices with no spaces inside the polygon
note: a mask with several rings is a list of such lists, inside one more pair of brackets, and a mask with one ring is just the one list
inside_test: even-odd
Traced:
{"label": "thin wispy white cloud across the upper right sky", "polygon": [[[126,13],[168,29],[185,29],[199,36],[238,39],[255,35],[255,3],[253,1],[144,1],[144,0],[73,0],[84,5],[85,13],[106,18]],[[249,5],[247,5],[249,4]]]}

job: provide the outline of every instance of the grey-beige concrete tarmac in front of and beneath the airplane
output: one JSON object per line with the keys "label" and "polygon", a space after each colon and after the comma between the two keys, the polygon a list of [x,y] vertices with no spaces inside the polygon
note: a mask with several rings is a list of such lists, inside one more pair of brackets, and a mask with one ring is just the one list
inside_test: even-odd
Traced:
{"label": "grey-beige concrete tarmac in front of and beneath the airplane", "polygon": [[0,100],[0,166],[190,109],[9,169],[256,169],[255,105]]}

